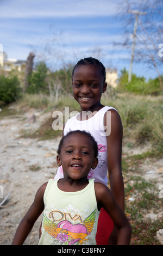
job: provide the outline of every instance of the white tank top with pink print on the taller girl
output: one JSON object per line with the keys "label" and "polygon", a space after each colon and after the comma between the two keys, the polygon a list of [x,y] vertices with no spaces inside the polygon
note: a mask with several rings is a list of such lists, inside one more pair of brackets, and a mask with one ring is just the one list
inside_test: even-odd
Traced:
{"label": "white tank top with pink print on the taller girl", "polygon": [[[91,169],[87,178],[95,179],[95,182],[101,182],[102,184],[108,184],[108,161],[107,161],[107,141],[106,136],[110,134],[110,120],[111,112],[107,112],[107,129],[104,127],[104,115],[109,109],[115,109],[113,107],[105,106],[101,108],[95,115],[87,120],[80,121],[77,119],[77,115],[70,118],[64,128],[64,135],[67,132],[74,130],[81,130],[90,132],[95,138],[98,145],[98,165],[95,169]],[[116,109],[115,109],[116,110]],[[106,130],[106,131],[105,131]],[[62,166],[58,168],[57,174],[54,179],[62,178]]]}

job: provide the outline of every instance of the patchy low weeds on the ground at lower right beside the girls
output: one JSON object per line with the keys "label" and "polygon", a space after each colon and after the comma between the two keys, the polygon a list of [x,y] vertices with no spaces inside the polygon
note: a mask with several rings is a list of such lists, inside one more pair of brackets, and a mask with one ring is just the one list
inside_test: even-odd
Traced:
{"label": "patchy low weeds on the ground at lower right beside the girls", "polygon": [[147,145],[124,148],[125,211],[133,229],[131,245],[162,245],[163,235],[158,233],[163,234],[163,158],[148,157]]}

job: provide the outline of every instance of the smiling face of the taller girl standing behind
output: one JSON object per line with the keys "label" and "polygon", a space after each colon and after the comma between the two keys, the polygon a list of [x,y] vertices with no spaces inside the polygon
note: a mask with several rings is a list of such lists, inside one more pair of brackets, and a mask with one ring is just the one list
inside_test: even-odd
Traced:
{"label": "smiling face of the taller girl standing behind", "polygon": [[98,111],[102,107],[101,96],[106,86],[102,72],[97,66],[79,65],[74,70],[73,96],[79,103],[81,111]]}

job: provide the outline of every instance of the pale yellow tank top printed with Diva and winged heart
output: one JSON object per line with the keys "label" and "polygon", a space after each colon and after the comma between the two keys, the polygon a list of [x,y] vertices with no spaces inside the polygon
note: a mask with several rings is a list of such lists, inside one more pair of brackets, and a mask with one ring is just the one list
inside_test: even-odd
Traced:
{"label": "pale yellow tank top printed with Diva and winged heart", "polygon": [[61,191],[58,180],[49,180],[45,190],[39,245],[96,245],[99,211],[94,179],[77,192]]}

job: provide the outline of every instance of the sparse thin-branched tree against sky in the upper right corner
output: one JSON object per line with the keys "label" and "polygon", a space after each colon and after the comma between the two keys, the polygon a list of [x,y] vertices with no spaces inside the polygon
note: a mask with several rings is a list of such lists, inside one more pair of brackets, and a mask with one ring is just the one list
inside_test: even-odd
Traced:
{"label": "sparse thin-branched tree against sky in the upper right corner", "polygon": [[[161,0],[125,1],[121,3],[120,12],[123,21],[124,41],[118,43],[123,48],[131,49],[133,45],[132,36],[135,40],[135,51],[133,60],[137,63],[146,63],[149,68],[155,69],[160,88],[163,93],[161,81],[161,69],[163,58],[159,56],[159,45],[163,42],[163,15],[161,10],[163,3]],[[143,13],[146,15],[136,15]],[[134,23],[137,19],[136,33],[134,33]]]}

